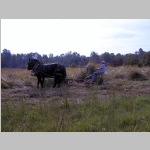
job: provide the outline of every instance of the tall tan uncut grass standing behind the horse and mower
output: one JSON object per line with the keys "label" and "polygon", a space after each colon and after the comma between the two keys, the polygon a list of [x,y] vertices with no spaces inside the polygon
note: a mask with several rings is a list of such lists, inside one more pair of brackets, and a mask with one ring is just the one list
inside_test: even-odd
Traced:
{"label": "tall tan uncut grass standing behind the horse and mower", "polygon": [[[71,68],[67,67],[67,78],[84,79],[87,74],[94,72],[96,66],[90,64],[85,68]],[[140,74],[144,79],[150,79],[150,67],[107,67],[104,74],[106,81],[115,79],[131,80],[134,74]],[[25,69],[1,69],[1,86],[2,88],[35,86],[37,79],[30,75],[31,72]],[[50,83],[52,81],[48,80]],[[7,87],[8,86],[8,87]]]}

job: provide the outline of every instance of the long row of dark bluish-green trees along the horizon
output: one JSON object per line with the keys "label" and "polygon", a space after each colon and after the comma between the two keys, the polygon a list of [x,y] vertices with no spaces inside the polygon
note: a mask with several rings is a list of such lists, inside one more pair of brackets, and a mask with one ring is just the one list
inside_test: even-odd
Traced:
{"label": "long row of dark bluish-green trees along the horizon", "polygon": [[145,52],[142,48],[136,51],[134,54],[121,55],[120,53],[114,54],[105,52],[101,55],[96,52],[91,52],[90,57],[80,55],[77,52],[68,52],[65,54],[54,56],[52,53],[49,55],[40,55],[38,53],[28,54],[12,54],[10,50],[3,49],[1,53],[1,68],[25,68],[29,58],[38,59],[45,63],[59,63],[65,66],[76,67],[86,66],[89,62],[100,63],[104,60],[107,65],[111,66],[149,66],[150,67],[150,51]]}

